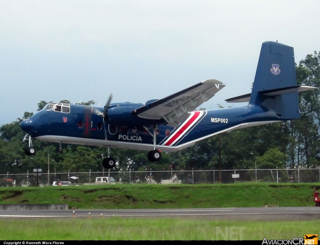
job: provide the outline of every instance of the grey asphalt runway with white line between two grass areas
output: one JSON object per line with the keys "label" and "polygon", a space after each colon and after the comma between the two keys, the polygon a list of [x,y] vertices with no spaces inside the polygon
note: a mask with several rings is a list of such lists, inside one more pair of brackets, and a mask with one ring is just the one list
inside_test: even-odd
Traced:
{"label": "grey asphalt runway with white line between two grass areas", "polygon": [[[189,209],[77,209],[77,210],[1,210],[0,219],[72,218],[187,218],[224,220],[314,220],[320,207],[281,208],[189,208]],[[102,216],[101,216],[102,214]]]}

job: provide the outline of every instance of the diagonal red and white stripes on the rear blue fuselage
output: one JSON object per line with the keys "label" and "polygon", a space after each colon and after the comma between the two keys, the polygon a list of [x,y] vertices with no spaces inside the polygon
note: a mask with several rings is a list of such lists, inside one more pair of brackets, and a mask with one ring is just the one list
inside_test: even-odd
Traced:
{"label": "diagonal red and white stripes on the rear blue fuselage", "polygon": [[203,116],[204,111],[193,111],[187,120],[163,143],[172,146]]}

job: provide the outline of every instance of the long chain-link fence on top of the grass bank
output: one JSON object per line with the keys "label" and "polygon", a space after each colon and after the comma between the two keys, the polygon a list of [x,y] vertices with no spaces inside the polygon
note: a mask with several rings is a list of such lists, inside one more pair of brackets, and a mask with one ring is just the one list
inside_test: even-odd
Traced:
{"label": "long chain-link fence on top of the grass bank", "polygon": [[239,182],[315,183],[320,182],[320,168],[308,169],[236,169],[236,170],[182,170],[182,171],[120,171],[84,173],[41,173],[35,175],[2,174],[0,187],[45,186],[58,179],[69,185],[95,184],[97,177],[112,177],[122,184],[217,184]]}

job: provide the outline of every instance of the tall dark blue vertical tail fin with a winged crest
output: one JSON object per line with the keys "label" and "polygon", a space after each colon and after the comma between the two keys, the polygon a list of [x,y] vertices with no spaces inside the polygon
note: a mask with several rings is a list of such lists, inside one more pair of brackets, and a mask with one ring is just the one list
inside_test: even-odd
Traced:
{"label": "tall dark blue vertical tail fin with a winged crest", "polygon": [[281,119],[297,119],[300,118],[298,92],[302,90],[297,86],[293,48],[264,42],[249,104],[266,107]]}

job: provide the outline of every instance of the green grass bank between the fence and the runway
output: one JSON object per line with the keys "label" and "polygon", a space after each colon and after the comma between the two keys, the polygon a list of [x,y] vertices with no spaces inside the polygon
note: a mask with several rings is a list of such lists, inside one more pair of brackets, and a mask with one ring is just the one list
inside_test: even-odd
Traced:
{"label": "green grass bank between the fence and the runway", "polygon": [[314,206],[319,184],[116,184],[0,188],[0,204],[62,204],[78,209]]}

